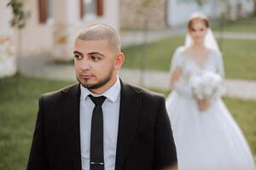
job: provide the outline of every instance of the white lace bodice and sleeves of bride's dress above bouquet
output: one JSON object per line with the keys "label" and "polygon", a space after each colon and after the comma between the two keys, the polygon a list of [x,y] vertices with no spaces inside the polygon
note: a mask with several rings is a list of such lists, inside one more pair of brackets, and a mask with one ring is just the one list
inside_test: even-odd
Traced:
{"label": "white lace bodice and sleeves of bride's dress above bouquet", "polygon": [[207,59],[202,65],[199,65],[194,59],[185,54],[185,48],[179,47],[172,57],[171,74],[177,68],[182,70],[181,78],[178,82],[172,83],[172,88],[179,94],[191,96],[189,88],[189,78],[194,74],[200,74],[204,71],[212,71],[224,77],[224,66],[222,56],[218,51],[211,50]]}

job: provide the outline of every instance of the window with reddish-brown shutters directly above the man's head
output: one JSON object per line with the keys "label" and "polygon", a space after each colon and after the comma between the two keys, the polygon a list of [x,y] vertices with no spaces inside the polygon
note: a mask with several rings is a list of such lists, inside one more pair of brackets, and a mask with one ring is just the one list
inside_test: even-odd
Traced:
{"label": "window with reddish-brown shutters directly above the man's head", "polygon": [[103,15],[103,0],[80,0],[80,17],[92,20]]}

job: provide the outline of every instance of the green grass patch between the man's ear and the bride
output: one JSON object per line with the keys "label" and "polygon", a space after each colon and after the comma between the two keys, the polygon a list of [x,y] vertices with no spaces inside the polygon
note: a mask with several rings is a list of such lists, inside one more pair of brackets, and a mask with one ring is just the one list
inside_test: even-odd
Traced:
{"label": "green grass patch between the man's ear and the bride", "polygon": [[131,46],[123,49],[125,54],[124,67],[140,68],[145,65],[148,70],[168,71],[172,53],[183,44],[183,37],[166,37],[158,42]]}

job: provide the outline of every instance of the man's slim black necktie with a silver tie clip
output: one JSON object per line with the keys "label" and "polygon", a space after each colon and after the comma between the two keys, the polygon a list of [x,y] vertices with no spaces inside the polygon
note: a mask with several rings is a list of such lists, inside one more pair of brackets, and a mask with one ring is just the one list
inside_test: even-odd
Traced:
{"label": "man's slim black necktie with a silver tie clip", "polygon": [[95,104],[90,129],[90,170],[104,170],[102,104],[106,97],[89,97]]}

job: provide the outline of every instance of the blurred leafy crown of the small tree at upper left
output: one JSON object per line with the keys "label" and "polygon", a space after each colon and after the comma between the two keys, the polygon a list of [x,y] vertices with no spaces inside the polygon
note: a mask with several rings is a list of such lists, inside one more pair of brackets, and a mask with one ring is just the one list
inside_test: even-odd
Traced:
{"label": "blurred leafy crown of the small tree at upper left", "polygon": [[30,17],[29,12],[24,11],[23,2],[21,0],[10,0],[7,4],[12,8],[13,19],[10,20],[10,26],[22,29],[26,26],[26,20]]}

